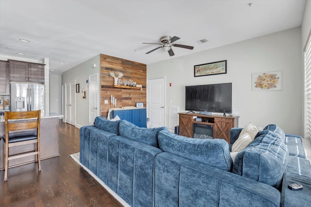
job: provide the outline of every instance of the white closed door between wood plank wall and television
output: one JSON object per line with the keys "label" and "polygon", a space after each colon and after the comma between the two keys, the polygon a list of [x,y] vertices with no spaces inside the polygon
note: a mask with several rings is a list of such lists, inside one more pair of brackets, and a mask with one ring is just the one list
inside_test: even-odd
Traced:
{"label": "white closed door between wood plank wall and television", "polygon": [[165,126],[165,78],[149,79],[147,84],[148,118],[152,128]]}

